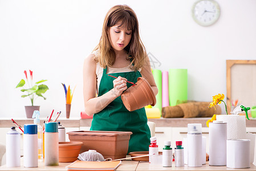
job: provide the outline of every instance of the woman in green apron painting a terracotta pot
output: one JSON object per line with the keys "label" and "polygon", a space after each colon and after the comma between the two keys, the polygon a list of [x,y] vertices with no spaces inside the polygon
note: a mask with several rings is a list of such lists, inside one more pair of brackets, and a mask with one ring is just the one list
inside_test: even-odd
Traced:
{"label": "woman in green apron painting a terracotta pot", "polygon": [[158,89],[136,14],[127,5],[113,6],[105,16],[99,44],[84,60],[84,107],[87,115],[94,114],[92,131],[132,132],[128,153],[148,151],[150,144],[145,108],[129,112],[120,96],[132,86],[127,80],[136,83],[141,76],[156,95]]}

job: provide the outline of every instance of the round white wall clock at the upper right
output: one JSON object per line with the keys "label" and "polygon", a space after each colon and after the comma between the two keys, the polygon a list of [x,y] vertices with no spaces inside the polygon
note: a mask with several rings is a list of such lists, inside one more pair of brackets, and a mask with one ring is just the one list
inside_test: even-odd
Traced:
{"label": "round white wall clock at the upper right", "polygon": [[192,7],[192,17],[201,26],[210,26],[220,17],[220,6],[213,0],[200,0]]}

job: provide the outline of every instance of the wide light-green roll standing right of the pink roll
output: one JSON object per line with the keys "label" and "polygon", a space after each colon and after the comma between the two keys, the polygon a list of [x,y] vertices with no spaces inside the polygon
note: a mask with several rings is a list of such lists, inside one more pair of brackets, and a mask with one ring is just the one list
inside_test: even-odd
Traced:
{"label": "wide light-green roll standing right of the pink roll", "polygon": [[188,70],[169,69],[170,106],[186,103],[188,100]]}

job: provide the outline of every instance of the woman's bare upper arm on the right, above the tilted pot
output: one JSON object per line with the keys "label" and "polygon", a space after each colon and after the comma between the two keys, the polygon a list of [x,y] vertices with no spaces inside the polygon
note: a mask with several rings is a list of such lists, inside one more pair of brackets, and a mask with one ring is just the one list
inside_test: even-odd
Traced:
{"label": "woman's bare upper arm on the right, above the tilted pot", "polygon": [[159,90],[156,87],[156,83],[151,71],[151,64],[150,64],[148,55],[146,56],[144,66],[141,68],[141,75],[143,76],[143,78],[147,79],[148,83],[151,85],[153,92],[155,93],[155,96],[156,96]]}

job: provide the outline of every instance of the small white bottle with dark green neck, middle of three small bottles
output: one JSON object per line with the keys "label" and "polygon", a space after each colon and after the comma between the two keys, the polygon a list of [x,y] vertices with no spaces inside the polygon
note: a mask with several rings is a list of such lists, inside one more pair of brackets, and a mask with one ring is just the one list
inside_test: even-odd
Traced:
{"label": "small white bottle with dark green neck, middle of three small bottles", "polygon": [[162,166],[172,167],[172,148],[170,141],[164,141],[164,148],[162,149]]}

